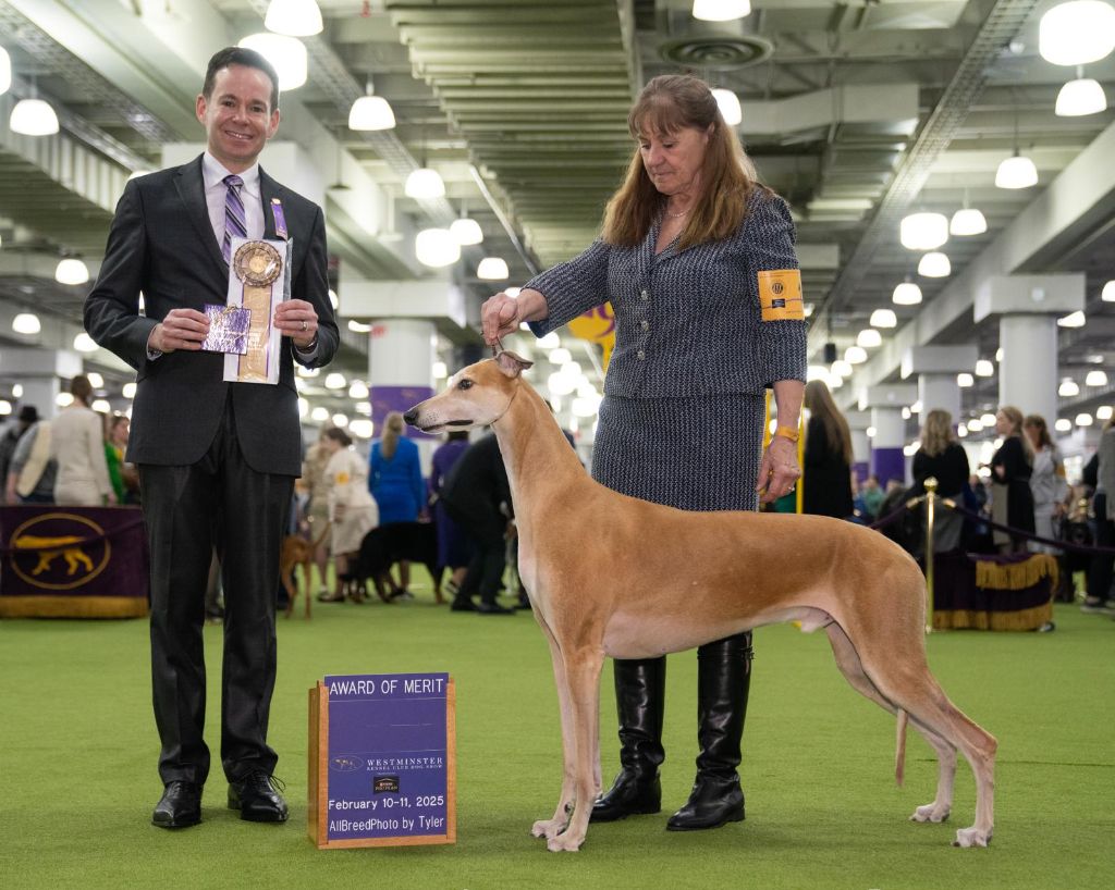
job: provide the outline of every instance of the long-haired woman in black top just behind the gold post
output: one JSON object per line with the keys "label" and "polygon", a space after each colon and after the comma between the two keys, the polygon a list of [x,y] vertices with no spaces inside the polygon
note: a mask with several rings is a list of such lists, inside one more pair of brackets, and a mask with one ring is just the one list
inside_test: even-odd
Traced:
{"label": "long-haired woman in black top just behind the gold post", "polygon": [[[952,414],[940,408],[934,408],[925,414],[921,427],[921,446],[913,456],[913,487],[911,496],[925,493],[925,480],[937,479],[937,495],[951,498],[961,507],[964,506],[964,486],[971,475],[968,466],[968,453],[957,440],[957,430],[952,423]],[[922,529],[924,529],[925,510],[921,510]],[[946,552],[960,547],[964,528],[963,514],[941,507],[934,511],[933,551]],[[924,534],[921,537],[920,550],[924,550]]]}

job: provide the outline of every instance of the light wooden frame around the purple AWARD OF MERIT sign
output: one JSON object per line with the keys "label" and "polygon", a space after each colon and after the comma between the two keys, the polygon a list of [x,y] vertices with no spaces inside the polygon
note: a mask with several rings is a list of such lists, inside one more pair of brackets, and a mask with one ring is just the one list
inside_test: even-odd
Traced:
{"label": "light wooden frame around the purple AWARD OF MERIT sign", "polygon": [[457,723],[456,684],[449,677],[445,694],[445,812],[444,834],[329,840],[329,688],[322,681],[309,689],[309,746],[307,832],[319,850],[353,847],[425,847],[457,841]]}

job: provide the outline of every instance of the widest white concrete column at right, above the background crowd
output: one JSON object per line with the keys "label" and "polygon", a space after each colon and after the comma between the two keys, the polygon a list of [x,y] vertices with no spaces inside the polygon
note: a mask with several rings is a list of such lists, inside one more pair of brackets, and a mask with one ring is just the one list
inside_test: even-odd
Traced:
{"label": "widest white concrete column at right, above the background crowd", "polygon": [[1053,429],[1057,420],[1057,319],[1004,315],[999,319],[999,404],[1040,414]]}

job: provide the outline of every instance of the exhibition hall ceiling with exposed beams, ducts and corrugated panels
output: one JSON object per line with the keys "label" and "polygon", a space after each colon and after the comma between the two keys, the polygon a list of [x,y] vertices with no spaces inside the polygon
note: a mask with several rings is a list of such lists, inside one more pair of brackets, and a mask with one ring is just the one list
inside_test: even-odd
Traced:
{"label": "exhibition hall ceiling with exposed beams, ducts and corrugated panels", "polygon": [[[927,342],[975,343],[993,360],[995,317],[934,317],[934,302],[954,304],[950,288],[964,286],[966,271],[983,268],[989,251],[1017,247],[1012,224],[1047,196],[1065,224],[1011,271],[1084,273],[1086,324],[1060,331],[1061,373],[1115,364],[1115,302],[1101,299],[1115,278],[1109,177],[1089,195],[1068,194],[1063,176],[1095,163],[1089,147],[1113,138],[1115,110],[1055,113],[1063,85],[1078,77],[1038,51],[1039,20],[1057,3],[753,0],[749,16],[726,22],[698,21],[691,6],[319,0],[323,29],[300,38],[308,79],[283,94],[280,138],[298,143],[320,180],[342,312],[349,273],[432,277],[468,294],[474,321],[484,294],[575,255],[631,157],[632,97],[656,75],[691,70],[738,97],[740,138],[762,180],[791,203],[813,313],[811,363],[825,343],[843,355],[879,309],[894,311],[894,330],[933,322]],[[127,176],[161,166],[169,144],[200,143],[193,104],[205,61],[264,31],[266,10],[266,0],[0,0],[0,47],[12,68],[0,96],[0,350],[28,344],[10,329],[25,309],[45,331],[57,324],[58,338],[77,332],[88,285],[54,282],[58,258],[78,254],[96,272]],[[1083,77],[1115,98],[1115,55]],[[367,92],[388,100],[394,129],[349,128],[349,109]],[[8,130],[11,106],[31,95],[55,107],[60,137]],[[997,187],[999,165],[1015,153],[1034,162],[1037,184]],[[440,174],[444,197],[405,194],[421,166]],[[1061,189],[1050,189],[1059,177]],[[949,275],[919,274],[921,253],[900,243],[901,219],[966,206],[982,212],[987,231],[940,248]],[[459,216],[479,223],[483,244],[443,270],[416,262],[415,234]],[[506,282],[477,277],[486,256],[506,261]],[[895,305],[894,287],[908,277],[922,303]],[[478,343],[448,322],[438,331],[450,361],[450,345]],[[365,338],[347,332],[342,364],[355,372],[366,370]],[[872,374],[899,380],[898,366],[881,362]],[[845,381],[845,403],[856,385],[856,374]],[[993,376],[977,378],[966,410],[993,404],[997,392]],[[1082,387],[1063,409],[1109,400],[1109,388]]]}

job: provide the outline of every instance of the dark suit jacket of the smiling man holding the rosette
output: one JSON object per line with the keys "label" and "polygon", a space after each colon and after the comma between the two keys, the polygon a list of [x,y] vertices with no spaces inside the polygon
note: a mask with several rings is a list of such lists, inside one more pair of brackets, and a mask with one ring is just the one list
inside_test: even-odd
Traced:
{"label": "dark suit jacket of the smiling man holding the rosette", "polygon": [[[260,169],[264,238],[274,239],[271,199],[279,198],[293,241],[291,296],[313,304],[318,348],[328,364],[338,331],[326,278],[321,208]],[[204,311],[225,303],[229,266],[210,223],[202,159],[133,179],[124,189],[108,235],[100,275],[85,304],[85,326],[101,346],[136,369],[127,460],[185,466],[201,460],[216,436],[226,398],[249,466],[266,473],[301,472],[301,434],[294,387],[294,345],[283,338],[278,385],[225,383],[224,355],[178,350],[147,358],[147,339],[172,309]],[[138,315],[143,292],[146,317]],[[231,388],[231,392],[230,392]]]}

